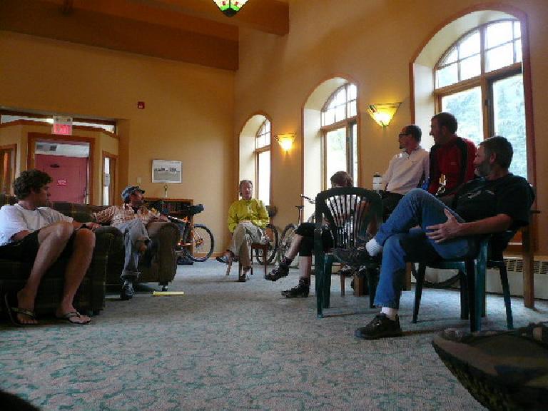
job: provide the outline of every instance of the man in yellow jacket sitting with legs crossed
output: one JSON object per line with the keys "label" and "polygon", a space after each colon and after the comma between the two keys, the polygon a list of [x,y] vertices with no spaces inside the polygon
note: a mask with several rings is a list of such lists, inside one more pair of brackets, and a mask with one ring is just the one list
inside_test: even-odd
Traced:
{"label": "man in yellow jacket sitting with legs crossed", "polygon": [[240,181],[240,196],[228,209],[228,230],[232,233],[230,247],[222,257],[217,260],[228,264],[232,260],[238,260],[243,268],[243,278],[251,268],[247,239],[258,242],[263,230],[268,224],[268,211],[263,201],[251,198],[253,196],[253,183],[250,180]]}

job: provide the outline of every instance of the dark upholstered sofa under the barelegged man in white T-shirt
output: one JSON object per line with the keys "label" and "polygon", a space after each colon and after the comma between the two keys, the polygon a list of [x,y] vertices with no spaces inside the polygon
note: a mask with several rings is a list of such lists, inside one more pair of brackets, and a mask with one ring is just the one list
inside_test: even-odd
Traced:
{"label": "dark upholstered sofa under the barelegged man in white T-shirt", "polygon": [[[14,204],[16,198],[0,194],[0,206]],[[90,220],[87,205],[72,203],[54,203],[53,208],[77,221]],[[101,227],[96,230],[96,245],[93,250],[91,265],[83,279],[76,297],[74,306],[82,313],[98,314],[105,305],[105,278],[108,260],[115,254],[116,248],[123,246],[121,233],[113,227]],[[119,250],[117,251],[119,253]],[[66,259],[58,260],[44,275],[36,297],[35,310],[37,314],[51,314],[59,305],[63,293],[64,269]],[[24,286],[29,277],[31,265],[25,261],[0,259],[0,291],[16,291]],[[3,305],[0,305],[0,310]]]}

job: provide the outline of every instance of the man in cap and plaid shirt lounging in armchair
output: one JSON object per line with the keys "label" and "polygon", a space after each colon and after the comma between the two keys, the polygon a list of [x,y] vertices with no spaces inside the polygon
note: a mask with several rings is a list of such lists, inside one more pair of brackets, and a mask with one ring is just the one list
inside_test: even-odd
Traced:
{"label": "man in cap and plaid shirt lounging in armchair", "polygon": [[139,276],[139,258],[151,257],[151,238],[146,225],[152,221],[168,221],[159,213],[148,210],[143,204],[145,191],[139,186],[128,186],[122,191],[123,205],[113,205],[95,213],[98,223],[110,223],[124,236],[126,258],[123,262],[121,279],[123,280],[120,298],[130,300],[133,297],[133,283]]}

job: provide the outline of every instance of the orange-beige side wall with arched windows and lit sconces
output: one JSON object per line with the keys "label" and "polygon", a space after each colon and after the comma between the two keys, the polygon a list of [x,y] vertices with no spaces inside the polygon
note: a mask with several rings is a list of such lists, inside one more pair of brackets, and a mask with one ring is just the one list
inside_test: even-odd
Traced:
{"label": "orange-beige side wall with arched windows and lit sconces", "polygon": [[[409,64],[442,22],[485,1],[475,0],[290,0],[290,33],[284,37],[243,31],[240,70],[235,81],[235,140],[250,113],[265,111],[273,134],[295,131],[290,156],[273,146],[273,205],[275,225],[295,220],[303,190],[303,106],[328,78],[356,83],[361,113],[361,181],[371,186],[372,174],[384,171],[397,151],[397,132],[410,122]],[[548,156],[546,76],[548,59],[548,1],[514,0],[491,3],[513,6],[529,19],[534,133],[536,135],[537,197],[544,213],[539,218],[539,254],[548,255]],[[370,103],[402,101],[384,130],[367,115]],[[423,129],[427,135],[428,129]],[[318,171],[319,172],[319,171]],[[306,193],[315,195],[315,193]]]}

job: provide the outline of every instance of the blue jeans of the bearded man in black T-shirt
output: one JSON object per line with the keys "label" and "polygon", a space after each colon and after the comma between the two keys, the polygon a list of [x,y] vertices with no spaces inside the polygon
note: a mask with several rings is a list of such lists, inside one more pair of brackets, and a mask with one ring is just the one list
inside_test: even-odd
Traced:
{"label": "blue jeans of the bearded man in black T-shirt", "polygon": [[[455,211],[430,193],[414,188],[400,200],[390,217],[380,226],[375,240],[383,246],[383,250],[375,305],[400,307],[408,261],[460,258],[476,250],[477,242],[474,238],[454,238],[442,243],[427,238],[427,226],[447,221],[445,209],[463,222]],[[413,228],[417,226],[420,228]]]}

